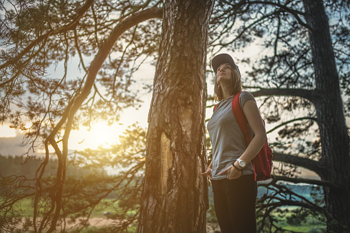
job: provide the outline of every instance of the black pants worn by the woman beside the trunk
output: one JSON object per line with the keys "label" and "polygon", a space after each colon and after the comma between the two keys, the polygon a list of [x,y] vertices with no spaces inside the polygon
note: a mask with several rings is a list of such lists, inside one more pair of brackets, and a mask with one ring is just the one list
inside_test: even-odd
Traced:
{"label": "black pants worn by the woman beside the trunk", "polygon": [[212,180],[214,206],[222,233],[255,233],[258,187],[254,175]]}

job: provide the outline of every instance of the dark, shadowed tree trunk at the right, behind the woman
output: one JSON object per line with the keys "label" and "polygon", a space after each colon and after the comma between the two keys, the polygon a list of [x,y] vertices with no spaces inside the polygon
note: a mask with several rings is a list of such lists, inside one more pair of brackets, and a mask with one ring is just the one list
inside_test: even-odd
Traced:
{"label": "dark, shadowed tree trunk at the right, behind the woman", "polygon": [[[329,22],[321,0],[303,0],[305,19],[312,27],[309,33],[314,58],[316,91],[314,102],[320,127],[325,181],[341,188],[325,188],[325,204],[333,219],[328,219],[328,232],[348,232],[350,227],[350,155],[349,136],[342,110],[339,77],[336,69]],[[336,221],[334,221],[336,220]],[[347,230],[344,229],[347,228]]]}

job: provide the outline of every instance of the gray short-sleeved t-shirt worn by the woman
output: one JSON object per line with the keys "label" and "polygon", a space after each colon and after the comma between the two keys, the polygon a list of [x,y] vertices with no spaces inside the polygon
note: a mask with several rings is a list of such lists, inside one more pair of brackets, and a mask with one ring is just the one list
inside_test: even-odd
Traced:
{"label": "gray short-sleeved t-shirt worn by the woman", "polygon": [[[234,160],[238,159],[248,144],[245,140],[232,112],[232,99],[230,96],[227,100],[219,103],[210,118],[207,129],[212,143],[212,179],[225,179],[226,174],[219,175],[223,170],[232,165]],[[248,91],[243,91],[239,96],[239,104],[243,105],[247,100],[254,100],[254,96]],[[248,124],[250,138],[254,136]],[[252,163],[245,166],[241,175],[254,174]]]}

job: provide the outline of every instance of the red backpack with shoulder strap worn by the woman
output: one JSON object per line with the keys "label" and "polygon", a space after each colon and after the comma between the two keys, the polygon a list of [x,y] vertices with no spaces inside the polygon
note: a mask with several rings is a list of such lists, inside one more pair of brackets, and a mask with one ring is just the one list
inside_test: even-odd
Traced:
{"label": "red backpack with shoulder strap worn by the woman", "polygon": [[[241,109],[241,104],[239,104],[239,96],[241,92],[239,92],[236,96],[234,96],[232,100],[232,111],[234,117],[236,118],[239,128],[241,128],[242,133],[245,135],[245,140],[247,140],[248,144],[250,144],[251,139],[249,135],[249,130],[247,126],[247,120]],[[214,111],[217,105],[214,107]],[[265,122],[264,122],[265,124]],[[252,160],[255,180],[262,181],[271,178],[271,170],[272,170],[272,150],[270,146],[265,142],[263,148],[259,151],[259,153]]]}

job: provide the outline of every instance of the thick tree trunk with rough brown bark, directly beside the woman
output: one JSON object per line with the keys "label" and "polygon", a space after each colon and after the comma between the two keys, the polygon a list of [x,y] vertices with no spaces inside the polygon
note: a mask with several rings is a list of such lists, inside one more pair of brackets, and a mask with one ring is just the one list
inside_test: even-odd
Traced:
{"label": "thick tree trunk with rough brown bark, directly beside the woman", "polygon": [[206,45],[213,0],[164,3],[138,232],[206,232]]}

